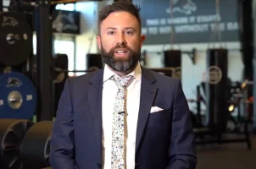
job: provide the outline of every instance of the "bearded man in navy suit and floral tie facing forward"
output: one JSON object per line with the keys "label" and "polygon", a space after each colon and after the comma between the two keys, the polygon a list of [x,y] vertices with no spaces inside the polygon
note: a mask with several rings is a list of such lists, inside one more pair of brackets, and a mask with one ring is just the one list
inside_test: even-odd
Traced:
{"label": "bearded man in navy suit and floral tie facing forward", "polygon": [[142,68],[139,8],[99,14],[103,70],[68,79],[53,127],[53,169],[191,169],[194,135],[181,82]]}

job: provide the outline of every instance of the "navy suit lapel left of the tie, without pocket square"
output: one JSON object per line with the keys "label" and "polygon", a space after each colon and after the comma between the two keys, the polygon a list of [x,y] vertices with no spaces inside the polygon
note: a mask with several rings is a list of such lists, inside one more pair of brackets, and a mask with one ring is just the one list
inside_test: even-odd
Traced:
{"label": "navy suit lapel left of the tie, without pocket square", "polygon": [[102,150],[102,93],[103,93],[103,70],[100,70],[92,76],[90,80],[90,87],[88,90],[88,101],[90,106],[90,113],[92,116],[93,128],[96,134],[95,143],[97,150],[101,155]]}

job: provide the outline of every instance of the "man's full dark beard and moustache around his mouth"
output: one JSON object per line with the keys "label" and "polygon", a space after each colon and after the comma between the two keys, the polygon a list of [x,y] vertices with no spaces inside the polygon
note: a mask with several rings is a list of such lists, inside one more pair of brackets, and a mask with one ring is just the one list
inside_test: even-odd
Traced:
{"label": "man's full dark beard and moustache around his mouth", "polygon": [[[127,59],[117,59],[114,57],[114,50],[118,48],[125,48],[129,51]],[[141,49],[138,48],[136,51],[133,51],[129,46],[117,45],[114,46],[109,52],[106,52],[103,46],[101,46],[101,54],[103,63],[106,63],[115,71],[125,73],[136,68],[136,65],[141,57]]]}

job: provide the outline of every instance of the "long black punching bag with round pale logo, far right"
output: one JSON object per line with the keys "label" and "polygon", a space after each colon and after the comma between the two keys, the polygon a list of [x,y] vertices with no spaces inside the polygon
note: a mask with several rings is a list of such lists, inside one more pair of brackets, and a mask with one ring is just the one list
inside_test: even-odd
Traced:
{"label": "long black punching bag with round pale logo, far right", "polygon": [[207,51],[207,116],[206,125],[216,132],[223,132],[228,118],[228,51],[209,49]]}

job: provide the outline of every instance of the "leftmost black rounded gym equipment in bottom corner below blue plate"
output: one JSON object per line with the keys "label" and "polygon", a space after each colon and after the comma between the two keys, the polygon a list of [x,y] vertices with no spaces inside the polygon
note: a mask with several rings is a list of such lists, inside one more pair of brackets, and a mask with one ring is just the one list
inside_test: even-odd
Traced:
{"label": "leftmost black rounded gym equipment in bottom corner below blue plate", "polygon": [[4,169],[20,167],[19,146],[34,123],[21,119],[0,119],[0,166]]}

